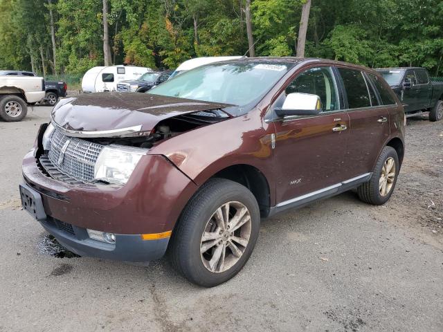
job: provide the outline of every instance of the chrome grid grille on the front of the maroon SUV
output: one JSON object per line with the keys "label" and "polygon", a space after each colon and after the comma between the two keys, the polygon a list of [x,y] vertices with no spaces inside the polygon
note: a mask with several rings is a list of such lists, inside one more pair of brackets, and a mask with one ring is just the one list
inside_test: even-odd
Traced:
{"label": "chrome grid grille on the front of the maroon SUV", "polygon": [[89,183],[103,145],[64,135],[56,129],[51,136],[48,158],[62,174]]}

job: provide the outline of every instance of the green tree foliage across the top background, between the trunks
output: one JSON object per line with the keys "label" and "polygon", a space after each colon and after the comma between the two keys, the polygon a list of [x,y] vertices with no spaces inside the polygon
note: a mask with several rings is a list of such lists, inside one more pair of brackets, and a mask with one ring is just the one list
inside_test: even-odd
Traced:
{"label": "green tree foliage across the top background, between the trunks", "polygon": [[[305,1],[251,1],[257,55],[295,54]],[[30,70],[32,58],[38,73],[54,69],[49,8],[57,72],[80,75],[103,64],[102,1],[51,2],[0,0],[0,68]],[[248,50],[245,3],[109,0],[113,61],[175,68],[192,57],[243,55]],[[306,55],[372,67],[424,66],[442,75],[442,26],[442,0],[313,0]]]}

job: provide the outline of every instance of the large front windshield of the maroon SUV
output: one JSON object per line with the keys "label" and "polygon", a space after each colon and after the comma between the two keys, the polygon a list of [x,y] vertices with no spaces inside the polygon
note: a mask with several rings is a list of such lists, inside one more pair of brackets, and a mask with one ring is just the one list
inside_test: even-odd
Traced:
{"label": "large front windshield of the maroon SUV", "polygon": [[174,77],[149,93],[245,106],[262,97],[293,64],[208,64]]}

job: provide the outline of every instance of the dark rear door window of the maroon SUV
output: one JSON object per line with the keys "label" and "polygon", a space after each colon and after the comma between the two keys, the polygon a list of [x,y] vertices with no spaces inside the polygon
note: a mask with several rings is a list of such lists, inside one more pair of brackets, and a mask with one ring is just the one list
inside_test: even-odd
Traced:
{"label": "dark rear door window of the maroon SUV", "polygon": [[361,107],[371,107],[368,86],[361,71],[354,69],[338,68],[338,72],[343,80],[347,95],[349,109],[359,109]]}

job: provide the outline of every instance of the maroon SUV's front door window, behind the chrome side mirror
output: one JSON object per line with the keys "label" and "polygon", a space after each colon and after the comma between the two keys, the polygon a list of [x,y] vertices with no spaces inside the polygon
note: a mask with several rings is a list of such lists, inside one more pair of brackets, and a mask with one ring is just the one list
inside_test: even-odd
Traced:
{"label": "maroon SUV's front door window, behind the chrome side mirror", "polygon": [[331,67],[311,68],[300,73],[286,88],[286,94],[297,92],[318,95],[323,111],[340,109],[337,87]]}

